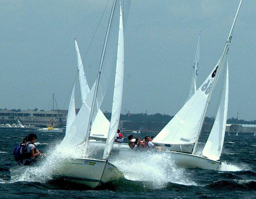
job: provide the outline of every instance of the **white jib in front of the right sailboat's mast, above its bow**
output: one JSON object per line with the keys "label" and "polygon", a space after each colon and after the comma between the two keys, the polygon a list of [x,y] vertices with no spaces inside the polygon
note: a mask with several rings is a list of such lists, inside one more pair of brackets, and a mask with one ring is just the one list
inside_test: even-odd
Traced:
{"label": "white jib in front of the right sailboat's mast, above its bow", "polygon": [[212,160],[219,160],[223,148],[228,115],[228,60],[227,74],[222,87],[220,106],[212,126],[211,133],[204,146],[202,155]]}

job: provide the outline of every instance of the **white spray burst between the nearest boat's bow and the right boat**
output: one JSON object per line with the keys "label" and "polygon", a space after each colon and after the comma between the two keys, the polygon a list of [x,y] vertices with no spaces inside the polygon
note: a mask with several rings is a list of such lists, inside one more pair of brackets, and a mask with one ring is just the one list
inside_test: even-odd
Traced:
{"label": "white spray burst between the nearest boat's bow and the right boat", "polygon": [[126,179],[144,181],[147,188],[164,188],[167,182],[197,186],[189,176],[190,172],[176,166],[171,157],[164,153],[125,151],[111,157],[110,161],[123,172]]}

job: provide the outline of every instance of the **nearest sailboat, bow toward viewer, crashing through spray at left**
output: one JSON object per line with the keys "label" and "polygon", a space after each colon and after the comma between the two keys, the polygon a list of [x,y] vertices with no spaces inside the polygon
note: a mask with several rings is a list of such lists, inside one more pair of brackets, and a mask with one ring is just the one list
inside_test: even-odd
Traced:
{"label": "nearest sailboat, bow toward viewer, crashing through spray at left", "polygon": [[[104,55],[106,52],[106,44],[108,41],[109,30],[113,18],[113,13],[115,10],[116,0],[114,1],[111,16],[109,19],[108,30],[106,33],[106,38],[103,46],[103,51],[101,55],[100,67],[98,72],[98,77],[94,83],[89,95],[85,99],[85,103],[82,105],[80,111],[74,118],[72,117],[73,122],[68,126],[68,131],[64,139],[62,140],[63,145],[74,144],[73,140],[76,139],[76,143],[80,143],[85,147],[86,153],[88,151],[89,136],[91,135],[93,121],[96,120],[95,113],[98,113],[100,104],[102,102],[100,96],[98,98],[99,91],[101,89],[101,70],[102,64],[104,61]],[[104,75],[104,74],[102,74]],[[102,77],[104,78],[104,77]],[[105,77],[106,78],[106,77]],[[119,124],[120,114],[121,114],[121,105],[122,105],[122,93],[123,93],[123,80],[124,80],[124,35],[123,35],[123,18],[122,18],[122,3],[120,3],[120,19],[119,19],[119,35],[118,35],[118,48],[117,48],[117,61],[116,61],[116,77],[115,77],[115,86],[114,86],[114,96],[113,96],[113,105],[112,105],[112,115],[111,121],[108,129],[108,137],[105,144],[103,156],[101,158],[68,158],[64,159],[62,168],[59,170],[58,174],[64,180],[85,184],[90,188],[95,188],[100,186],[102,183],[109,182],[116,178],[122,176],[122,173],[117,169],[115,165],[108,161],[108,157],[113,148],[116,131]],[[74,92],[74,88],[73,88]],[[72,92],[70,106],[73,106],[74,94]],[[101,90],[100,94],[103,94],[104,91]],[[91,105],[89,108],[89,105]],[[72,108],[71,108],[72,109]],[[70,109],[70,110],[71,110]],[[90,117],[85,117],[86,115]],[[71,121],[70,120],[70,121]],[[87,123],[87,125],[85,125]],[[87,131],[85,135],[82,129]],[[79,129],[79,130],[77,130]]]}

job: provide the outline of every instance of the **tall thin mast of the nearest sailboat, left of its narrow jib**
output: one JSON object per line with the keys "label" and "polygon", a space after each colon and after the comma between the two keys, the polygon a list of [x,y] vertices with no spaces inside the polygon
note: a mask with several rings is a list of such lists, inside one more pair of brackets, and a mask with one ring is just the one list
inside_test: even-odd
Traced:
{"label": "tall thin mast of the nearest sailboat, left of its narrow jib", "polygon": [[111,22],[112,22],[115,6],[116,6],[116,0],[114,0],[114,3],[113,3],[112,11],[111,11],[110,18],[109,18],[109,21],[108,21],[108,29],[107,29],[107,32],[106,32],[105,41],[104,41],[104,45],[103,45],[103,49],[102,49],[102,53],[101,53],[99,72],[98,72],[98,76],[97,76],[97,80],[96,80],[96,85],[95,85],[95,90],[94,90],[93,100],[92,100],[92,108],[91,108],[91,113],[90,113],[90,118],[89,118],[89,124],[88,124],[87,133],[86,133],[86,137],[85,137],[86,152],[87,152],[87,145],[88,145],[89,136],[90,136],[91,129],[92,129],[93,111],[94,111],[95,106],[97,105],[96,100],[97,100],[98,87],[99,87],[99,81],[100,81],[100,73],[101,73],[101,68],[102,68],[102,64],[103,64],[103,60],[104,60],[104,56],[105,56],[105,52],[106,52],[106,48],[107,48],[109,30],[110,30],[110,27],[111,27]]}

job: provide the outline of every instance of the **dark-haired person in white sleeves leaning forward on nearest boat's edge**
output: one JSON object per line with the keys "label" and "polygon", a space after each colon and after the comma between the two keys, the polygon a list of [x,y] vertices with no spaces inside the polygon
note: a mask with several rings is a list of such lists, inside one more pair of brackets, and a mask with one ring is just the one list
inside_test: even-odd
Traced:
{"label": "dark-haired person in white sleeves leaning forward on nearest boat's edge", "polygon": [[27,158],[24,158],[20,161],[21,164],[25,166],[29,165],[37,155],[41,155],[41,152],[36,149],[36,146],[34,144],[36,142],[36,139],[37,136],[35,133],[30,133],[28,135],[28,141],[24,144],[28,156]]}

